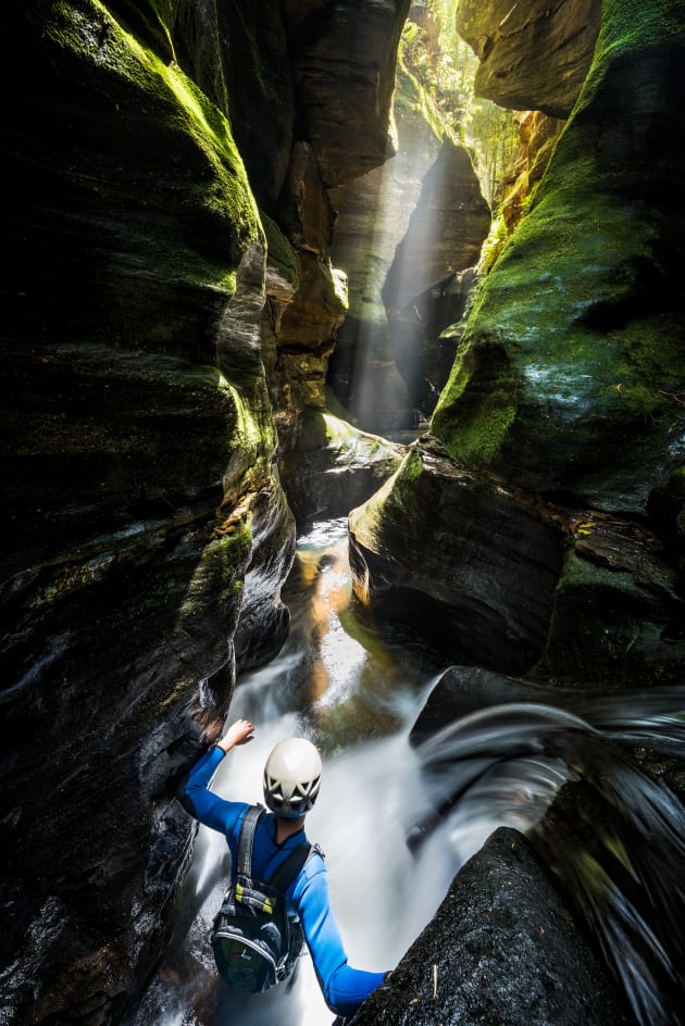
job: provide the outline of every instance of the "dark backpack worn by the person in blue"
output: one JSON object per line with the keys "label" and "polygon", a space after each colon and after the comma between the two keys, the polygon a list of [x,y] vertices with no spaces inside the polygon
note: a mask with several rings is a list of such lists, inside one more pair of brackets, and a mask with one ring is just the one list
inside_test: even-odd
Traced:
{"label": "dark backpack worn by the person in blue", "polygon": [[248,809],[238,837],[237,873],[212,925],[222,979],[238,993],[263,993],[287,979],[302,947],[302,928],[288,918],[285,891],[312,853],[300,844],[267,881],[252,878],[252,844],[265,810]]}

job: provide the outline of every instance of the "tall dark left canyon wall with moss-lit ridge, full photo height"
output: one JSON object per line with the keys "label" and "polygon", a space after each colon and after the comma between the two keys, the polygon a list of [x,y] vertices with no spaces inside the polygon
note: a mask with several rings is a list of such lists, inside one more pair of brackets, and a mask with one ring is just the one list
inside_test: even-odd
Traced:
{"label": "tall dark left canyon wall with moss-lit ridge, full photo height", "polygon": [[5,92],[3,159],[0,989],[17,1023],[122,1012],[188,859],[175,779],[221,729],[236,651],[263,660],[287,625],[264,236],[228,123],[146,11],[148,49],[88,0],[10,17],[40,68]]}

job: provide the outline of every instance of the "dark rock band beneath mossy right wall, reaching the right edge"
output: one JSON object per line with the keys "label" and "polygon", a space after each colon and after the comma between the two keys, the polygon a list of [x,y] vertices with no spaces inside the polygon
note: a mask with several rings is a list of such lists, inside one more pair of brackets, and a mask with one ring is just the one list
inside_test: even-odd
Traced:
{"label": "dark rock band beneath mossy right wall, reaching the right edge", "polygon": [[678,571],[653,531],[466,471],[429,435],[350,515],[350,562],[358,598],[386,624],[552,693],[685,671]]}

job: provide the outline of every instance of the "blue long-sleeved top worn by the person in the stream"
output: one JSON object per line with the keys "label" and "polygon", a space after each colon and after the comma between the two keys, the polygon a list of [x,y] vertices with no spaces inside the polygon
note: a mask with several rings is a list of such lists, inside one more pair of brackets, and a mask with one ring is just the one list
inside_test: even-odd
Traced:
{"label": "blue long-sleeved top worn by the person in the stream", "polygon": [[[210,784],[224,758],[224,750],[214,746],[192,767],[182,783],[178,797],[184,808],[213,830],[226,838],[235,873],[238,836],[242,818],[250,808],[246,802],[231,802],[210,791]],[[259,822],[252,849],[252,873],[258,879],[269,875],[285,862],[299,844],[307,843],[304,830],[276,843],[276,823],[273,813]],[[307,946],[311,952],[316,978],[324,1000],[332,1012],[352,1015],[372,990],[383,981],[384,973],[368,973],[347,964],[340,931],[328,901],[328,877],[321,855],[315,852],[297,879],[286,891],[288,913],[302,924]]]}

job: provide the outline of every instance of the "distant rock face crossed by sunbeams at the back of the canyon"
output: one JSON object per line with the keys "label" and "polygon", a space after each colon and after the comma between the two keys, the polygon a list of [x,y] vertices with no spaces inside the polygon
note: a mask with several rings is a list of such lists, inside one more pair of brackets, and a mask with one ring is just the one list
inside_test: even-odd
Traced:
{"label": "distant rock face crossed by sunbeams at the back of the canyon", "polygon": [[490,226],[469,151],[438,139],[421,99],[401,70],[398,154],[331,193],[332,252],[350,295],[331,380],[356,423],[377,433],[414,427],[433,411],[451,359],[443,370],[424,349],[454,320],[446,290],[476,262]]}

